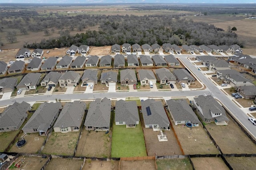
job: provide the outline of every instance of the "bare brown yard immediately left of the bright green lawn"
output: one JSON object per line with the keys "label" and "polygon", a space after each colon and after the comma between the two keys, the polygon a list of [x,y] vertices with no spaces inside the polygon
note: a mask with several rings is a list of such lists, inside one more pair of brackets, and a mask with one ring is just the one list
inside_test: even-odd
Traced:
{"label": "bare brown yard immediately left of the bright green lawn", "polygon": [[83,129],[82,137],[76,150],[76,156],[109,158],[111,147],[109,135],[111,133],[105,134],[105,131],[89,132]]}

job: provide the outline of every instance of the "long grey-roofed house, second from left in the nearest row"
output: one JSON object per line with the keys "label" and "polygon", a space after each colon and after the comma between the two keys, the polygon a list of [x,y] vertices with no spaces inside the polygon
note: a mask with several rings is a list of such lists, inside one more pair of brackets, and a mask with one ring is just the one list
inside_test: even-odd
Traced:
{"label": "long grey-roofed house, second from left in the nearest row", "polygon": [[61,103],[42,103],[35,113],[30,117],[28,122],[22,128],[24,133],[38,133],[40,136],[46,136],[49,133],[53,123],[57,119]]}

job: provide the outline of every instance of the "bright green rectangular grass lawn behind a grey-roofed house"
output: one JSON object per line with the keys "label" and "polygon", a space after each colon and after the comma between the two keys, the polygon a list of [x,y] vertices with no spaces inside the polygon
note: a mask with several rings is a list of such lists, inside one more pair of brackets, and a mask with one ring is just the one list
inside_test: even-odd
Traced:
{"label": "bright green rectangular grass lawn behind a grey-roofed house", "polygon": [[135,128],[113,124],[111,157],[147,156],[141,123]]}

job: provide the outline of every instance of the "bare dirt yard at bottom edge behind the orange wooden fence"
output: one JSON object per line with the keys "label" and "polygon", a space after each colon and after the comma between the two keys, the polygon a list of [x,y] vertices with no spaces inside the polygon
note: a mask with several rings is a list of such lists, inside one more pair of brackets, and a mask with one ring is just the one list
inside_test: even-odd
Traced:
{"label": "bare dirt yard at bottom edge behind the orange wooden fence", "polygon": [[121,160],[120,170],[156,170],[155,160]]}

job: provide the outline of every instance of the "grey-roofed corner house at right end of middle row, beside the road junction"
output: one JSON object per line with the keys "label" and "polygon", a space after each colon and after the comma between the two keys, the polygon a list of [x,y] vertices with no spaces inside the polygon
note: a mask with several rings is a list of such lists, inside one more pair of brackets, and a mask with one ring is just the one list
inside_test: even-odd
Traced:
{"label": "grey-roofed corner house at right end of middle row, beside the road junction", "polygon": [[184,68],[173,70],[174,76],[177,78],[178,83],[191,83],[196,81],[191,74]]}

